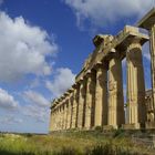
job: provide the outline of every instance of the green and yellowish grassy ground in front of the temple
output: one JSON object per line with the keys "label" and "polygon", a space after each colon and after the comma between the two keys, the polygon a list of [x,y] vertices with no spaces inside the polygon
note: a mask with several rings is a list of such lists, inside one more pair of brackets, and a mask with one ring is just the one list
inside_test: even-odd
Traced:
{"label": "green and yellowish grassy ground in front of the temple", "polygon": [[154,155],[121,134],[55,133],[51,135],[0,134],[0,155]]}

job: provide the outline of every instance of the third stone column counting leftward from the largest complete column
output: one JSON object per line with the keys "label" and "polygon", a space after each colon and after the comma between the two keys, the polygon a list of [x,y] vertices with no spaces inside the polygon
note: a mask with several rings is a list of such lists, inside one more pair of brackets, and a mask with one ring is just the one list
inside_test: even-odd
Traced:
{"label": "third stone column counting leftward from the largest complete column", "polygon": [[107,125],[107,68],[96,66],[95,126]]}

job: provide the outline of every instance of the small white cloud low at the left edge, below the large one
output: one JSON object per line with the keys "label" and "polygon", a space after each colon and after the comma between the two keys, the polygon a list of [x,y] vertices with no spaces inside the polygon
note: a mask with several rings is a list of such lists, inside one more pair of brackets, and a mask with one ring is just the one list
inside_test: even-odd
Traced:
{"label": "small white cloud low at the left edge, below the large one", "polygon": [[0,108],[17,108],[19,103],[6,90],[0,89]]}

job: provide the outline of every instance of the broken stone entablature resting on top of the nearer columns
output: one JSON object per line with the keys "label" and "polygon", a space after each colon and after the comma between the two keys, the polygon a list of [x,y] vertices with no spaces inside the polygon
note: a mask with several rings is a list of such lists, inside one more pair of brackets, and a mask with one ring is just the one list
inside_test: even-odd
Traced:
{"label": "broken stone entablature resting on top of the nearer columns", "polygon": [[[123,31],[118,32],[116,37],[112,35],[96,35],[94,38],[95,42],[97,40],[101,44],[97,44],[94,52],[85,60],[84,66],[82,71],[76,75],[75,81],[80,81],[89,70],[92,70],[99,62],[108,61],[114,49],[118,49],[121,51],[122,59],[125,58],[125,51],[127,48],[127,43],[132,41],[133,38],[140,38],[141,44],[145,43],[148,40],[146,34],[143,34],[138,31],[138,28],[126,25]],[[95,44],[95,43],[94,43]]]}

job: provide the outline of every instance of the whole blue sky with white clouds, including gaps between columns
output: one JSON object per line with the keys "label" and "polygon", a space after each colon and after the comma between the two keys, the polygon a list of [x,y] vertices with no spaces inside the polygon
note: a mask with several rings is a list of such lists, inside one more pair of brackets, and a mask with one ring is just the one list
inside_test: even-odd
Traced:
{"label": "whole blue sky with white clouds, including gaps between columns", "polygon": [[[95,34],[134,25],[153,0],[0,0],[0,131],[46,133],[50,101],[74,82]],[[148,43],[143,48],[151,87]],[[125,95],[125,61],[123,62]]]}

